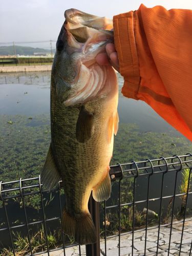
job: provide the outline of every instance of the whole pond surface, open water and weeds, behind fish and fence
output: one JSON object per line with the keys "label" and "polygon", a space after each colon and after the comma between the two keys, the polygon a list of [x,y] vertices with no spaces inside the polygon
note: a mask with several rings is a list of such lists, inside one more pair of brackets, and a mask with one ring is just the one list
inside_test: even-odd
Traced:
{"label": "whole pond surface, open water and weeds, behind fish and fence", "polygon": [[[50,72],[0,74],[0,180],[4,182],[40,174],[50,144],[50,76]],[[122,77],[118,76],[118,81],[120,91]],[[118,113],[120,124],[111,164],[192,152],[191,143],[146,103],[127,99],[119,92]],[[174,175],[166,176],[165,195],[173,193]],[[181,180],[179,174],[178,184]],[[160,196],[160,184],[161,176],[151,179],[150,197]],[[139,177],[136,200],[146,198],[146,188],[147,178]],[[114,184],[114,200],[117,191],[118,184]],[[37,201],[31,200],[29,205],[34,206]],[[163,207],[168,204],[166,200]],[[176,202],[176,206],[179,204],[180,201]],[[138,209],[145,206],[142,204]],[[158,211],[159,202],[152,202],[150,207]],[[50,208],[50,212],[53,210],[54,207]]]}

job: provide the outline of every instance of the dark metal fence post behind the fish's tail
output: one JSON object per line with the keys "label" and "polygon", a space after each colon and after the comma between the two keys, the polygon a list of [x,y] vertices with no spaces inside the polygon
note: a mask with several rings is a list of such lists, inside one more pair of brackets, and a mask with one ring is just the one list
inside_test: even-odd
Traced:
{"label": "dark metal fence post behind the fish's tail", "polygon": [[86,245],[86,255],[87,256],[100,256],[100,222],[99,222],[99,203],[96,202],[92,194],[89,199],[88,203],[89,211],[92,216],[93,222],[95,224],[96,230],[96,238],[97,241],[95,244],[88,244]]}

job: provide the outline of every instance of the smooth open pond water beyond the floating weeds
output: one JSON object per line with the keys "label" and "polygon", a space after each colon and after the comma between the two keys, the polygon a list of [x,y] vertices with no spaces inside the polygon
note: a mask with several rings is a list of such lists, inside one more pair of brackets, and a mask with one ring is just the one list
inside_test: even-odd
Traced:
{"label": "smooth open pond water beyond the floating weeds", "polygon": [[[123,78],[118,76],[119,91]],[[39,115],[50,111],[50,72],[0,75],[0,114]],[[120,123],[136,123],[140,131],[179,133],[143,101],[128,99],[119,93]]]}

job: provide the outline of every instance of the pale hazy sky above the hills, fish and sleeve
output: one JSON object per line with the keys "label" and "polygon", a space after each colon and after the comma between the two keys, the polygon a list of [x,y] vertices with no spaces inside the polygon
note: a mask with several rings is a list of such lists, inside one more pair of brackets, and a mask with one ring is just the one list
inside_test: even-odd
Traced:
{"label": "pale hazy sky above the hills, fish and sleeve", "polygon": [[[166,9],[192,9],[192,0],[0,0],[0,46],[2,42],[56,40],[63,14],[70,8],[112,18],[137,10],[140,4],[149,8],[161,5]],[[52,44],[54,48],[55,42]],[[50,42],[30,46],[49,48]]]}

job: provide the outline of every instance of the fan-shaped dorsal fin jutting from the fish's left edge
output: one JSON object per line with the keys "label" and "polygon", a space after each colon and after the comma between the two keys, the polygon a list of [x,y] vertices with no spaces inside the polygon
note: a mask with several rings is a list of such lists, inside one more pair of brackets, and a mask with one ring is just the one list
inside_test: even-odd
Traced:
{"label": "fan-shaped dorsal fin jutting from the fish's left edge", "polygon": [[41,172],[41,182],[46,190],[53,188],[61,179],[52,154],[51,144]]}

